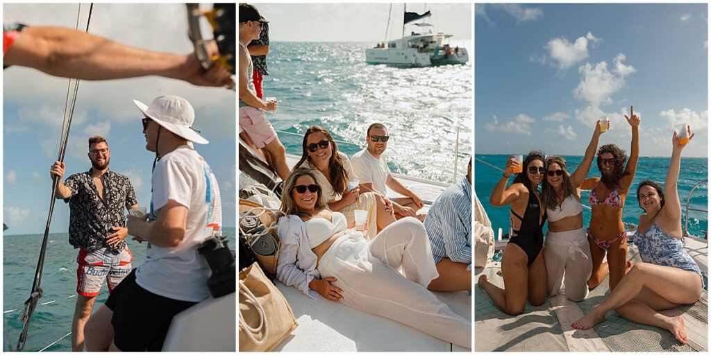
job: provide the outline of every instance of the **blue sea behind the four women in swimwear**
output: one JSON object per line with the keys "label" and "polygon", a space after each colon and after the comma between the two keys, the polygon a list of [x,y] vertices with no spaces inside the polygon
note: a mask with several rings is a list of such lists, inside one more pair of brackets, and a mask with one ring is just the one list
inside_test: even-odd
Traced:
{"label": "blue sea behind the four women in swimwear", "polygon": [[[494,166],[504,167],[509,155],[476,155],[476,158],[491,163]],[[577,165],[582,160],[582,156],[564,156],[568,162],[568,171],[572,172],[577,168]],[[479,201],[486,209],[494,231],[498,228],[503,229],[503,233],[508,233],[509,207],[491,207],[488,200],[491,197],[491,191],[496,185],[496,182],[501,178],[501,170],[496,170],[490,166],[475,160],[474,164],[474,191]],[[637,172],[634,175],[634,181],[631,189],[636,192],[637,184],[643,180],[653,180],[663,185],[666,173],[669,167],[669,158],[648,158],[640,157],[637,165]],[[597,170],[596,163],[593,162],[588,178],[600,176]],[[513,179],[512,179],[513,180]],[[510,181],[509,180],[509,185]],[[681,201],[682,213],[686,205],[686,199],[692,187],[700,181],[708,180],[708,160],[707,158],[682,158],[681,171],[679,174],[678,191]],[[627,196],[625,206],[622,211],[622,220],[624,222],[638,224],[639,216],[644,211],[639,207],[634,192]],[[581,191],[580,197],[583,204],[587,204],[589,191]],[[694,209],[708,209],[708,186],[701,185],[694,190],[694,194],[689,202],[689,207]],[[590,221],[590,210],[584,208],[583,211],[583,226],[587,228]],[[682,219],[683,222],[683,219]],[[708,231],[708,213],[694,212],[689,213],[689,234],[705,237],[705,231]]]}

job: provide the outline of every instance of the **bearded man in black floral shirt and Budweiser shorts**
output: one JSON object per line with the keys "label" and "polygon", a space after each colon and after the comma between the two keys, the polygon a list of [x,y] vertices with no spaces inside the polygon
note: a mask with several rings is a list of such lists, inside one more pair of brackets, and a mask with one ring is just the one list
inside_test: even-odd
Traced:
{"label": "bearded man in black floral shirt and Budweiser shorts", "polygon": [[128,236],[124,208],[139,207],[129,179],[109,170],[111,151],[105,138],[89,138],[88,155],[92,168],[71,175],[65,182],[64,163],[57,161],[50,168],[50,176],[59,178],[55,197],[69,203],[69,244],[80,249],[73,351],[84,349],[84,325],[104,280],[111,292],[131,272],[133,256],[124,241]]}

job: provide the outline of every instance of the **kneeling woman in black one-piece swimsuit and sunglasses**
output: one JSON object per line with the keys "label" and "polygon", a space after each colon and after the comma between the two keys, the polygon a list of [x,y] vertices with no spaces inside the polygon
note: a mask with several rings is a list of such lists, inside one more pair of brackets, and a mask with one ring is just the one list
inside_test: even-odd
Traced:
{"label": "kneeling woman in black one-piece swimsuit and sunglasses", "polygon": [[547,274],[542,253],[545,209],[541,208],[538,193],[538,184],[545,174],[544,157],[540,151],[528,153],[523,160],[523,173],[518,173],[513,184],[506,188],[508,178],[521,165],[511,155],[506,162],[506,170],[489,198],[492,206],[511,205],[513,234],[501,258],[506,289],[490,283],[486,275],[479,276],[479,285],[496,306],[509,315],[523,313],[527,299],[536,306],[545,301]]}

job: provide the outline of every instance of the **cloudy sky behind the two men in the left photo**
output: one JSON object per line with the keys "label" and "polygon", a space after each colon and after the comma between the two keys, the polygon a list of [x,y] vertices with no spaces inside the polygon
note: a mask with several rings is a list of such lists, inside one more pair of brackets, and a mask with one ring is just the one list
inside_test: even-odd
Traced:
{"label": "cloudy sky behind the two men in the left photo", "polygon": [[[4,18],[34,26],[74,28],[77,4],[4,4]],[[86,26],[89,5],[82,6]],[[167,53],[193,50],[183,4],[95,4],[90,32],[112,40]],[[57,159],[66,79],[9,67],[3,72],[3,221],[8,234],[41,234],[50,202],[50,165]],[[188,99],[196,110],[194,127],[210,141],[196,145],[220,184],[223,224],[235,226],[235,92],[160,77],[105,82],[82,81],[65,163],[67,174],[90,168],[89,136],[100,134],[111,148],[109,168],[129,176],[139,204],[151,199],[151,165],[141,133],[143,115],[132,99],[150,104],[160,95]],[[68,230],[68,205],[58,200],[52,232]]]}

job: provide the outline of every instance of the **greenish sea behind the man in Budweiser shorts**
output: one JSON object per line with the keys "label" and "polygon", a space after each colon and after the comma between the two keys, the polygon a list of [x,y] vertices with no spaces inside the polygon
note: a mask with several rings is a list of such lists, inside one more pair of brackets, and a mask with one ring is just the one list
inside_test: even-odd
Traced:
{"label": "greenish sea behind the man in Budweiser shorts", "polygon": [[[225,228],[230,249],[235,250],[235,228]],[[71,332],[72,317],[77,287],[77,253],[68,243],[66,233],[49,235],[44,272],[42,276],[43,297],[40,299],[28,331],[24,351],[40,351],[55,340]],[[134,261],[134,268],[146,258],[146,245],[129,241]],[[42,245],[41,234],[3,235],[3,349],[14,350],[22,331],[23,322],[18,320],[23,305],[30,295],[37,267],[39,249]],[[106,302],[109,292],[104,286],[97,296],[94,310]],[[57,300],[48,305],[44,302]],[[66,337],[46,351],[72,351],[70,337]]]}

